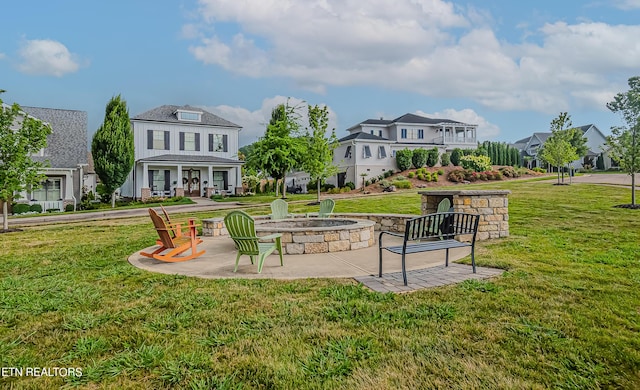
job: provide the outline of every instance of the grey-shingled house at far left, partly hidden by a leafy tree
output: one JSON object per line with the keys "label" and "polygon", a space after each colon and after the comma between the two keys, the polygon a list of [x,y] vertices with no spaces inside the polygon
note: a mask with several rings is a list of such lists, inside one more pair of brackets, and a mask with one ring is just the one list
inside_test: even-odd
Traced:
{"label": "grey-shingled house at far left, partly hidden by a leafy tree", "polygon": [[32,156],[47,161],[42,173],[46,179],[37,189],[20,194],[19,202],[40,204],[43,211],[63,211],[66,205],[75,206],[85,191],[95,190],[96,177],[87,147],[87,113],[22,106],[27,115],[48,123],[51,134],[47,147]]}

